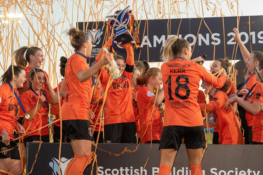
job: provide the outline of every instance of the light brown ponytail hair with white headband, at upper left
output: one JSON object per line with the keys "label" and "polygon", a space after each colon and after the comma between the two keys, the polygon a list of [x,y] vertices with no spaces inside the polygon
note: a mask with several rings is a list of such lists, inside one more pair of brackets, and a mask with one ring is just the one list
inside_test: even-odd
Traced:
{"label": "light brown ponytail hair with white headband, at upper left", "polygon": [[42,51],[42,50],[38,47],[23,46],[15,50],[12,54],[14,55],[15,62],[17,63],[18,66],[26,67],[27,63],[30,62],[30,55],[35,56],[35,53],[37,51]]}

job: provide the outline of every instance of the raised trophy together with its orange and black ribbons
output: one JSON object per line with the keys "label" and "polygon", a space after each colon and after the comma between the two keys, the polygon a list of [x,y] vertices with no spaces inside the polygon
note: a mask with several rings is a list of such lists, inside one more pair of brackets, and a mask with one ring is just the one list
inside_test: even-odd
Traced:
{"label": "raised trophy together with its orange and black ribbons", "polygon": [[[107,16],[110,18],[107,21],[108,26],[108,38],[110,38],[112,30],[114,30],[114,38],[117,42],[122,42],[120,47],[125,48],[125,44],[133,45],[133,41],[136,44],[136,49],[140,47],[139,33],[137,26],[134,24],[134,16],[131,14],[131,10],[128,10],[130,6],[124,10],[116,11],[114,15]],[[123,23],[122,26],[120,26]],[[133,31],[134,26],[134,31]],[[131,35],[132,34],[132,35]],[[112,51],[114,49],[112,48]]]}

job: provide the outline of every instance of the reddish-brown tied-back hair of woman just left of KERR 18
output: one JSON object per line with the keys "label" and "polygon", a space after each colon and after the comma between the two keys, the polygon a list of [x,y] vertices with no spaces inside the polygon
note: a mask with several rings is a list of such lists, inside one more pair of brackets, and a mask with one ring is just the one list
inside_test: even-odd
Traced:
{"label": "reddish-brown tied-back hair of woman just left of KERR 18", "polygon": [[161,73],[159,68],[149,68],[146,72],[144,71],[141,76],[137,77],[136,84],[143,86],[148,83],[150,77],[157,77]]}

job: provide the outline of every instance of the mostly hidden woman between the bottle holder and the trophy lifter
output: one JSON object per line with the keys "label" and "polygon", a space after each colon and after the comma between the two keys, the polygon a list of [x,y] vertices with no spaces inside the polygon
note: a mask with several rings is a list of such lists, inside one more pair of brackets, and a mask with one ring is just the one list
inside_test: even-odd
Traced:
{"label": "mostly hidden woman between the bottle holder and the trophy lifter", "polygon": [[[92,94],[92,98],[90,101],[90,109],[94,113],[94,118],[92,119],[93,124],[90,125],[93,133],[93,139],[94,142],[97,143],[104,143],[103,140],[103,123],[101,122],[101,119],[104,116],[104,110],[103,110],[103,99],[104,99],[104,93],[102,90],[102,85],[100,84],[100,81],[96,83],[95,79],[97,76],[97,72],[92,77],[92,86],[94,86],[94,91]],[[96,85],[95,85],[96,84]],[[99,139],[99,140],[98,140]]]}

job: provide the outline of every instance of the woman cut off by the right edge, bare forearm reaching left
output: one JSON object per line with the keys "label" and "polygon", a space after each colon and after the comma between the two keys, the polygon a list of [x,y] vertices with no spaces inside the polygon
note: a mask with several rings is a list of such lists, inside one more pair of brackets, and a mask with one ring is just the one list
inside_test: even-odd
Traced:
{"label": "woman cut off by the right edge, bare forearm reaching left", "polygon": [[[258,62],[257,68],[261,77],[263,76],[263,59],[261,58]],[[237,102],[242,106],[246,111],[253,114],[253,126],[252,126],[252,143],[251,144],[263,144],[263,112],[262,112],[262,103],[263,103],[263,83],[258,74],[256,74],[256,80],[259,83],[255,86],[255,91],[252,96],[252,102],[244,101],[239,97],[229,98],[226,102],[226,109],[228,105],[234,102]],[[247,89],[242,89],[240,94],[248,94]]]}

